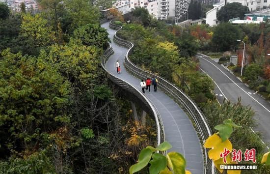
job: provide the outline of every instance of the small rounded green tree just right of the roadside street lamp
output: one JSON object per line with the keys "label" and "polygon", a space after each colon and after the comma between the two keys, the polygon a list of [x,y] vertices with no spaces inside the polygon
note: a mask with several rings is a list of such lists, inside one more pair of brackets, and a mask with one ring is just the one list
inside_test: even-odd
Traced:
{"label": "small rounded green tree just right of the roadside street lamp", "polygon": [[246,80],[250,80],[252,87],[259,85],[259,78],[263,75],[263,69],[260,65],[252,63],[244,69],[243,73]]}

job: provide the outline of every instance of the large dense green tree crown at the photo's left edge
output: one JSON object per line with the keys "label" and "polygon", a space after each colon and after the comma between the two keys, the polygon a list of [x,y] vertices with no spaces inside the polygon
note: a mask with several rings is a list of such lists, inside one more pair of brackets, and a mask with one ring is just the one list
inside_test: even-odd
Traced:
{"label": "large dense green tree crown at the photo's left edge", "polygon": [[41,57],[10,50],[0,57],[0,130],[2,135],[9,132],[1,138],[1,145],[11,150],[19,141],[31,147],[40,132],[59,123],[56,118],[68,118],[70,84]]}

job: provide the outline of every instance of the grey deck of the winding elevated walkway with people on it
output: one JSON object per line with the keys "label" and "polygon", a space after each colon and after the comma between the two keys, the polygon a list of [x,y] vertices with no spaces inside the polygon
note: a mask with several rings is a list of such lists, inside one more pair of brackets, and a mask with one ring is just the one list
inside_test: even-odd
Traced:
{"label": "grey deck of the winding elevated walkway with people on it", "polygon": [[[128,49],[113,42],[113,35],[116,30],[109,28],[109,22],[101,26],[108,29],[109,38],[112,41],[111,46],[114,50],[114,54],[106,63],[107,70],[141,90],[140,80],[130,75],[123,64]],[[121,74],[116,72],[115,63],[117,59],[120,61]],[[161,90],[158,89],[157,92],[154,92],[153,86],[151,86],[151,93],[145,91],[145,95],[152,101],[161,115],[166,141],[172,145],[172,148],[168,151],[177,151],[183,154],[187,161],[186,169],[192,174],[203,174],[202,148],[189,117],[178,104]]]}

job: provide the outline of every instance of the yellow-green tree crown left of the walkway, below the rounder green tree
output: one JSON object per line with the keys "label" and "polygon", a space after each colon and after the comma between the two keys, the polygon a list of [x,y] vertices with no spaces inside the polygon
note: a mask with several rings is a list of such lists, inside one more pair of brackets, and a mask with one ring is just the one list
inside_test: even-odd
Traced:
{"label": "yellow-green tree crown left of the walkway, below the rounder green tree", "polygon": [[65,46],[53,45],[48,57],[53,63],[60,62],[59,71],[74,87],[89,89],[95,86],[99,77],[100,52],[94,46],[82,45],[80,40],[71,40]]}

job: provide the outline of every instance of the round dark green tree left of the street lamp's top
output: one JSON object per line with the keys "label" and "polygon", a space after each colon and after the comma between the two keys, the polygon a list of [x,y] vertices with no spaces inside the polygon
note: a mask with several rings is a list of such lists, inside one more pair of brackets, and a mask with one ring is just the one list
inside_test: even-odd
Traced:
{"label": "round dark green tree left of the street lamp's top", "polygon": [[240,31],[229,23],[218,25],[214,31],[212,43],[216,51],[228,51],[236,46]]}

